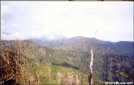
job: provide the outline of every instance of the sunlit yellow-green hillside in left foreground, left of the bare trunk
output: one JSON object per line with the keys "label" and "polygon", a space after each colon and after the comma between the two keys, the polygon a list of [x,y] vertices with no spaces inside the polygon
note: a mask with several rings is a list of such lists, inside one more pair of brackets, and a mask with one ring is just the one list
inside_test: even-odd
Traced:
{"label": "sunlit yellow-green hillside in left foreground, left of the bare trunk", "polygon": [[46,49],[29,41],[1,41],[0,84],[87,83],[87,75],[73,66],[53,65],[49,58],[53,50]]}

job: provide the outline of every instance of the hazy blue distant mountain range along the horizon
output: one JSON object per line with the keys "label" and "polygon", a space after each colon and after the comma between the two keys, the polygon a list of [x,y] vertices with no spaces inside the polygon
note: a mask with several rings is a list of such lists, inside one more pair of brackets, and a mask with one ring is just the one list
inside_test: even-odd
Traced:
{"label": "hazy blue distant mountain range along the horizon", "polygon": [[[110,42],[103,41],[96,38],[87,38],[82,36],[76,36],[72,38],[62,38],[58,40],[43,40],[31,38],[29,41],[37,45],[45,45],[49,47],[60,47],[77,51],[90,51],[92,48],[95,52],[98,53],[122,53],[134,56],[134,42],[132,41],[119,41],[119,42]],[[103,49],[101,49],[103,48]]]}

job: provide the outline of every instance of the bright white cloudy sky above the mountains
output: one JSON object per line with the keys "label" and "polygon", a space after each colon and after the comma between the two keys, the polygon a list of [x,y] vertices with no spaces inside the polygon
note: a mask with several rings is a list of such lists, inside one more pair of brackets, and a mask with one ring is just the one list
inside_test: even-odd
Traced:
{"label": "bright white cloudy sky above the mountains", "polygon": [[1,1],[1,39],[133,41],[133,2]]}

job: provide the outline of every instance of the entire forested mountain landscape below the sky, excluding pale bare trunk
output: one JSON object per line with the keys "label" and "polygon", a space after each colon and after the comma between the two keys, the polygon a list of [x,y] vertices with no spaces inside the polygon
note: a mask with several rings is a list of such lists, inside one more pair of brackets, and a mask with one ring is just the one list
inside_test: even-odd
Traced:
{"label": "entire forested mountain landscape below the sky, excluding pale bare trunk", "polygon": [[44,42],[1,40],[0,47],[1,84],[88,84],[91,49],[94,84],[134,79],[133,42],[79,36]]}

